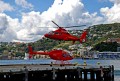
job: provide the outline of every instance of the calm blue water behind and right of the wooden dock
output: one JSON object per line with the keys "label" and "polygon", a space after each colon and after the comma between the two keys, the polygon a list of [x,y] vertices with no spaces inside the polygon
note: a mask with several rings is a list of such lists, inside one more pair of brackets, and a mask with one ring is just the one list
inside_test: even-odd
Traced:
{"label": "calm blue water behind and right of the wooden dock", "polygon": [[[39,59],[39,60],[0,60],[0,65],[7,64],[48,64],[54,62],[52,59]],[[82,60],[74,59],[70,60],[71,63],[83,64],[86,61],[87,64],[97,65],[100,62],[101,65],[114,65],[115,69],[115,81],[120,81],[120,60]]]}

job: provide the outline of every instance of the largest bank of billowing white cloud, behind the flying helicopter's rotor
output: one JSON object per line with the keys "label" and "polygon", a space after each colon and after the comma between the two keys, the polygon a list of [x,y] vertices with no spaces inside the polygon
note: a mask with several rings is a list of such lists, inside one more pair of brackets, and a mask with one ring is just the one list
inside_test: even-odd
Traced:
{"label": "largest bank of billowing white cloud, behind the flying helicopter's rotor", "polygon": [[[31,7],[25,0],[16,0],[16,3],[25,8]],[[5,14],[0,17],[1,20],[4,19],[3,26],[0,27],[2,29],[0,41],[32,42],[41,39],[45,33],[55,30],[50,28],[55,26],[52,20],[60,26],[83,24],[89,26],[104,22],[103,17],[98,16],[97,12],[86,11],[81,0],[55,0],[47,11],[41,13],[31,11],[22,13],[21,16],[21,20]]]}

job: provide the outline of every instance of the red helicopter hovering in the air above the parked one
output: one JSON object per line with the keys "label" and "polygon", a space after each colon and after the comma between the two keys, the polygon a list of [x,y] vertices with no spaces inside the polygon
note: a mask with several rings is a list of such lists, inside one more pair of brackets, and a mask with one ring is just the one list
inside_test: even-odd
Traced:
{"label": "red helicopter hovering in the air above the parked one", "polygon": [[[58,27],[58,29],[45,34],[44,36],[46,38],[50,38],[50,39],[54,39],[54,40],[73,41],[73,44],[75,43],[75,41],[79,41],[80,43],[86,41],[87,30],[83,31],[80,38],[78,38],[74,35],[69,34],[67,32],[67,30],[65,30],[63,27],[60,27],[59,25],[57,25],[54,21],[52,21],[52,22]],[[86,25],[81,25],[81,26],[86,26]],[[69,26],[69,27],[65,27],[65,28],[70,28],[70,27],[80,27],[80,26]]]}

